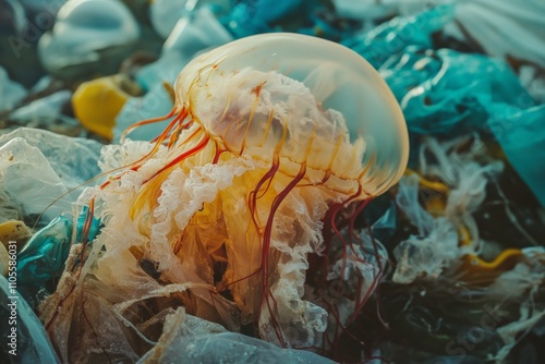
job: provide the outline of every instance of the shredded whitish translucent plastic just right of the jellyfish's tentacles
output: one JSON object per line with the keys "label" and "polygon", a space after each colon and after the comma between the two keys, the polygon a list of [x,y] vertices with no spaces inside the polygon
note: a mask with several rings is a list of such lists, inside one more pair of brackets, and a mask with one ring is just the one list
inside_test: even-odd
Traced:
{"label": "shredded whitish translucent plastic just right of the jellyfish's tentacles", "polygon": [[[457,146],[465,139],[462,137],[439,144],[437,139],[427,137],[420,150],[422,174],[438,178],[449,187],[443,216],[434,217],[421,206],[419,197],[425,202],[426,196],[421,195],[416,174],[404,177],[399,182],[396,202],[419,234],[411,235],[393,250],[398,264],[392,279],[397,283],[407,284],[416,279],[435,280],[441,275],[455,272],[463,255],[475,254],[481,247],[472,214],[483,203],[486,184],[502,170],[502,163],[481,166],[474,160],[476,155],[458,153]],[[475,139],[473,143],[479,142]],[[461,228],[467,229],[470,235],[465,246],[459,246]]]}

